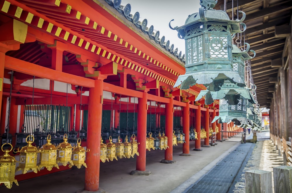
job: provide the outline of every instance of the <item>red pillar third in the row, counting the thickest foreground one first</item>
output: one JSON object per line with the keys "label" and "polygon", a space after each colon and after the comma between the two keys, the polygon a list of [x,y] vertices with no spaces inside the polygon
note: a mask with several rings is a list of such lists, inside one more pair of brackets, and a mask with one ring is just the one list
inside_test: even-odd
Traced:
{"label": "red pillar third in the row, counting the thickest foreground one first", "polygon": [[175,162],[172,160],[173,110],[173,98],[170,98],[169,103],[166,103],[165,105],[165,135],[168,137],[167,145],[169,148],[165,150],[164,159],[161,160],[161,163],[169,164]]}

